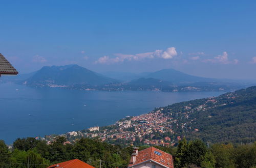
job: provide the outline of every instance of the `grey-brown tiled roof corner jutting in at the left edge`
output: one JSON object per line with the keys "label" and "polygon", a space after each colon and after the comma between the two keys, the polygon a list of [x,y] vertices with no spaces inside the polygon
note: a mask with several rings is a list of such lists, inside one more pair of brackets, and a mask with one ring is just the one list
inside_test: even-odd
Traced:
{"label": "grey-brown tiled roof corner jutting in at the left edge", "polygon": [[6,60],[4,55],[0,53],[0,75],[1,74],[18,74],[15,68]]}

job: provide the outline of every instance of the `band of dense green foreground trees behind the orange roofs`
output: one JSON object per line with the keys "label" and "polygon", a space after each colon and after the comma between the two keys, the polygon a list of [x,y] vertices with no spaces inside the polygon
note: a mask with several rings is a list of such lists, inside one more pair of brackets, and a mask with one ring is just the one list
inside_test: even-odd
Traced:
{"label": "band of dense green foreground trees behind the orange roofs", "polygon": [[[33,137],[18,138],[12,148],[0,141],[0,167],[47,167],[53,163],[80,159],[95,167],[127,167],[132,146],[120,146],[100,142],[98,139],[81,138],[75,144],[66,144],[65,137],[58,136],[52,144]],[[148,146],[141,146],[139,150]],[[196,139],[179,141],[177,147],[156,148],[174,157],[175,167],[255,167],[256,143],[208,145]]]}

